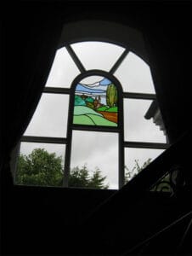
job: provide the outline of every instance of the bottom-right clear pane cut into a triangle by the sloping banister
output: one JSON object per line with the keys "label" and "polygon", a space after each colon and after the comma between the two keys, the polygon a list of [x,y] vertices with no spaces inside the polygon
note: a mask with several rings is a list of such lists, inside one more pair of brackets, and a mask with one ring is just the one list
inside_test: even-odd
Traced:
{"label": "bottom-right clear pane cut into a triangle by the sloping banister", "polygon": [[126,183],[162,154],[164,150],[154,148],[125,148]]}

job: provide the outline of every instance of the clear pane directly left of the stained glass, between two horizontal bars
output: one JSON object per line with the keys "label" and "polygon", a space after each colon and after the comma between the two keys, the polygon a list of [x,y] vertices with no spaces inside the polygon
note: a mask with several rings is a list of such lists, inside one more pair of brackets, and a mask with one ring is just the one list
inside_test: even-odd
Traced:
{"label": "clear pane directly left of the stained glass, between two horizontal bars", "polygon": [[66,137],[69,96],[43,93],[25,134]]}

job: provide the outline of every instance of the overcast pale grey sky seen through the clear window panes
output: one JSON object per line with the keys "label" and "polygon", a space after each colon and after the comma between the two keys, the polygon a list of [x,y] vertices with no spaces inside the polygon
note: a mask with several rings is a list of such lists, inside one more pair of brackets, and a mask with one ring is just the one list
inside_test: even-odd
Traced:
{"label": "overcast pale grey sky seen through the clear window panes", "polygon": [[[114,44],[87,42],[73,44],[73,49],[86,69],[109,71],[123,52],[123,48]],[[49,73],[46,86],[70,88],[72,81],[80,72],[71,60],[65,48],[55,55],[53,67]],[[155,93],[150,67],[137,55],[129,53],[121,66],[114,73],[124,91]],[[103,78],[100,78],[103,79]],[[81,82],[81,81],[79,81]],[[83,82],[83,81],[82,81]],[[85,81],[84,81],[85,82]],[[93,84],[90,77],[87,83]],[[99,82],[99,81],[98,81]],[[125,141],[166,143],[166,137],[153,120],[144,119],[150,107],[149,100],[124,100]],[[42,94],[41,101],[25,131],[29,136],[66,137],[69,96]],[[21,143],[20,152],[30,154],[33,148],[46,148],[65,156],[65,145]],[[145,160],[155,159],[163,150],[126,148],[125,164],[133,168],[134,160],[142,166]],[[91,131],[73,131],[71,167],[88,165],[90,170],[99,167],[110,189],[118,185],[118,134]]]}

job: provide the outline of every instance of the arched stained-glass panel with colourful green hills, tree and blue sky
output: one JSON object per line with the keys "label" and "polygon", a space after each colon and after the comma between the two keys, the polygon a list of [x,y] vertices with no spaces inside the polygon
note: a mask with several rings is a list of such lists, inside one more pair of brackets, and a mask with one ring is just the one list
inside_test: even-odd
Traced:
{"label": "arched stained-glass panel with colourful green hills, tree and blue sky", "polygon": [[118,92],[109,79],[91,76],[76,84],[74,125],[117,127]]}

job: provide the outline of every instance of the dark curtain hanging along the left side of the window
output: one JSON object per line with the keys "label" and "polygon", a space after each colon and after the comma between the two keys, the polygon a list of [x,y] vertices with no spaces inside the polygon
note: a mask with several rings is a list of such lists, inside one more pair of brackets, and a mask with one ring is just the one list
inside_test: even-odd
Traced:
{"label": "dark curtain hanging along the left side of the window", "polygon": [[10,153],[29,124],[59,43],[62,22],[57,9],[16,3],[3,19],[3,132],[1,180],[12,184]]}

